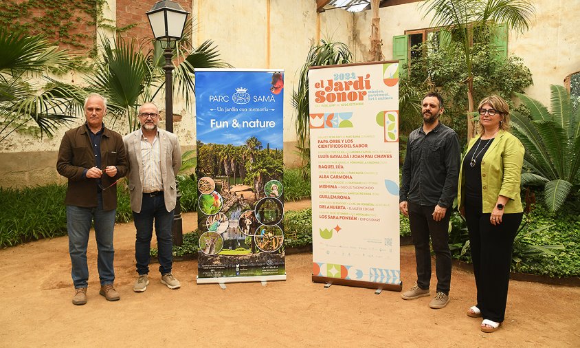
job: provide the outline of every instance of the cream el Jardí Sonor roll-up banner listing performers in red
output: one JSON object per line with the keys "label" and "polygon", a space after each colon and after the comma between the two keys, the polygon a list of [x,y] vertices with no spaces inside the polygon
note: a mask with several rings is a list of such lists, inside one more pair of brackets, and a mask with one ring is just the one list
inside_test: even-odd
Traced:
{"label": "cream el Jard\u00ed Sonor roll-up banner listing performers in red", "polygon": [[309,71],[313,281],[401,290],[399,63]]}

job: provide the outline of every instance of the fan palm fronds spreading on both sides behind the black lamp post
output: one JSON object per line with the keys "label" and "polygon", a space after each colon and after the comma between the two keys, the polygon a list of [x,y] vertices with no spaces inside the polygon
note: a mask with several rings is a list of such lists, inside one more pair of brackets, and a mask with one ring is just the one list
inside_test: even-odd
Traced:
{"label": "fan palm fronds spreading on both sides behind the black lamp post", "polygon": [[[186,28],[184,32],[190,31]],[[154,42],[153,49],[146,51],[150,42],[125,41],[120,36],[115,45],[103,40],[102,58],[87,78],[87,92],[107,96],[109,113],[115,121],[126,120],[129,131],[139,128],[139,105],[153,100],[165,88],[164,49],[159,42]],[[195,68],[230,66],[218,56],[217,47],[210,40],[194,48],[190,45],[190,34],[186,34],[177,42],[172,56],[175,65],[173,88],[175,95],[182,96],[186,105],[190,105],[195,91]]]}

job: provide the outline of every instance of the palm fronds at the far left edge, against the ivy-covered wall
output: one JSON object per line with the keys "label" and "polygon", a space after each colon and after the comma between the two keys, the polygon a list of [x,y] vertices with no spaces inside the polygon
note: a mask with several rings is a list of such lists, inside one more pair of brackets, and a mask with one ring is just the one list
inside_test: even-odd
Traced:
{"label": "palm fronds at the far left edge, against the ivy-covered wall", "polygon": [[[45,76],[71,68],[67,52],[50,45],[45,36],[0,26],[0,52],[0,142],[24,129],[50,136],[82,110],[82,104],[68,98],[76,88]],[[38,76],[47,81],[42,89],[31,81]]]}

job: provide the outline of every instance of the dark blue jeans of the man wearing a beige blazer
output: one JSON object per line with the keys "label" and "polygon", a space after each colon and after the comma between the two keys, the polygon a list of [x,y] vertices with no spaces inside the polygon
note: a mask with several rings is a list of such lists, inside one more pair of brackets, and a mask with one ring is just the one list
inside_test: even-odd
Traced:
{"label": "dark blue jeans of the man wearing a beige blazer", "polygon": [[157,236],[157,257],[159,258],[159,272],[171,273],[173,260],[173,240],[171,228],[173,210],[167,211],[163,194],[155,197],[143,195],[141,213],[133,212],[133,221],[137,229],[135,239],[135,261],[137,273],[148,274],[151,261],[151,237],[153,237],[153,221],[155,220],[155,235]]}

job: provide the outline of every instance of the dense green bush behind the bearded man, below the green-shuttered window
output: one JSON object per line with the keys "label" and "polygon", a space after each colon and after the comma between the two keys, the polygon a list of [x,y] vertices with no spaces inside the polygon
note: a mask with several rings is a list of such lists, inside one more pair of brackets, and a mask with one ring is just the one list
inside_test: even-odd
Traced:
{"label": "dense green bush behind the bearded man, below the green-shuttered window", "polygon": [[[473,98],[481,100],[491,94],[498,94],[509,101],[513,93],[523,93],[526,87],[532,85],[532,74],[524,65],[522,58],[511,55],[509,58],[498,56],[491,59],[489,52],[492,50],[492,44],[489,41],[489,32],[480,32],[480,35],[482,36],[480,41],[471,47],[473,50],[471,54]],[[441,116],[441,120],[453,128],[458,133],[460,141],[465,144],[467,124],[460,116],[465,114],[465,110],[469,107],[467,85],[465,85],[465,79],[468,78],[465,70],[466,57],[460,44],[449,43],[434,49],[433,47],[436,47],[438,43],[438,37],[434,36],[430,41],[417,47],[418,50],[430,53],[412,61],[410,76],[403,80],[405,85],[401,85],[401,91],[405,94],[399,94],[399,105],[403,103],[401,97],[410,94],[413,89],[418,89],[423,93],[427,89],[438,86],[437,89],[446,100],[445,113]],[[423,98],[422,95],[417,94],[414,98],[412,96],[411,94],[408,97],[409,100]],[[419,101],[416,106],[420,107],[420,105]],[[415,111],[410,106],[401,110],[401,119],[403,119],[401,120],[402,134],[410,133],[423,122],[420,110]]]}

